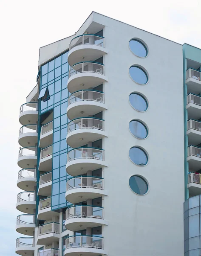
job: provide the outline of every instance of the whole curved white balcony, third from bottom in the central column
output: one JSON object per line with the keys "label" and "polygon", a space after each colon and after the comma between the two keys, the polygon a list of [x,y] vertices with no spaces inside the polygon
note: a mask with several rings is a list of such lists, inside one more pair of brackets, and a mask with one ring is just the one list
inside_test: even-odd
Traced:
{"label": "whole curved white balcony, third from bottom in the central column", "polygon": [[93,176],[71,177],[66,183],[65,198],[72,204],[77,204],[87,199],[94,199],[108,195],[104,189],[104,179]]}

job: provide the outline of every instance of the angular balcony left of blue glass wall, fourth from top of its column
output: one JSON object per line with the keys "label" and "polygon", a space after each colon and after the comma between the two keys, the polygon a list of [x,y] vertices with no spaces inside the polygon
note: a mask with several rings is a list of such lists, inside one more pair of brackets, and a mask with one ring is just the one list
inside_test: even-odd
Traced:
{"label": "angular balcony left of blue glass wall, fourth from top of its column", "polygon": [[37,219],[47,221],[52,219],[54,216],[59,216],[59,212],[54,212],[51,210],[51,205],[51,197],[41,199],[38,205]]}

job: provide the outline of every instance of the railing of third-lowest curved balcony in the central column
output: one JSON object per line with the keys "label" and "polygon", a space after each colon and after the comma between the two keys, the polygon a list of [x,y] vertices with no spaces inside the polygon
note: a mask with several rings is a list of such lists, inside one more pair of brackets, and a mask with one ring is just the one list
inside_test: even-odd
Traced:
{"label": "railing of third-lowest curved balcony in the central column", "polygon": [[67,180],[66,190],[76,188],[104,189],[104,179],[93,176],[78,176]]}

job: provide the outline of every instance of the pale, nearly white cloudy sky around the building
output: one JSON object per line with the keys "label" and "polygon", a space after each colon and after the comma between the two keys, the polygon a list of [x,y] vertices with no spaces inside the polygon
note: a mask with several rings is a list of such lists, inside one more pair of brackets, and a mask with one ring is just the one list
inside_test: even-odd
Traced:
{"label": "pale, nearly white cloudy sky around the building", "polygon": [[201,48],[201,0],[0,0],[0,256],[14,256],[19,109],[36,85],[39,48],[74,35],[92,11]]}

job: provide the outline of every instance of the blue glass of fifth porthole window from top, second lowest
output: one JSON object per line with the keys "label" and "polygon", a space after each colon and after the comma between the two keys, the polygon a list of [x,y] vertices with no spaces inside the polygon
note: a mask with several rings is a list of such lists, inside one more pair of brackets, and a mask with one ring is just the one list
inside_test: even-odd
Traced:
{"label": "blue glass of fifth porthole window from top, second lowest", "polygon": [[147,154],[141,148],[130,148],[129,156],[130,160],[139,166],[144,166],[145,164],[147,164]]}

